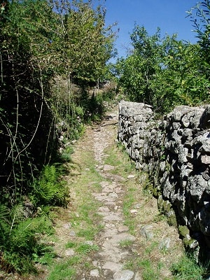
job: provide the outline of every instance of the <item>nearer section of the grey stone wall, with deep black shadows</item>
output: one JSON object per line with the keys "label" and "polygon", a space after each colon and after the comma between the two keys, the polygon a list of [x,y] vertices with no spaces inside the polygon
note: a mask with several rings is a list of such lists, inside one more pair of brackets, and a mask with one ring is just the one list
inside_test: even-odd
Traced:
{"label": "nearer section of the grey stone wall, with deep black shadows", "polygon": [[162,195],[179,212],[179,223],[210,248],[210,107],[179,106],[167,118]]}

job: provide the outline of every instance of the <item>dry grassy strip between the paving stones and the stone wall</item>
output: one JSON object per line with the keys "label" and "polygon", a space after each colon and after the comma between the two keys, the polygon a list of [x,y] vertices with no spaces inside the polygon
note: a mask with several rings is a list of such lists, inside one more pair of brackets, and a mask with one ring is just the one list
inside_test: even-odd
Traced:
{"label": "dry grassy strip between the paving stones and the stone wall", "polygon": [[177,230],[160,215],[157,201],[146,190],[147,174],[135,169],[121,145],[109,147],[106,154],[106,165],[115,167],[111,172],[125,179],[122,198],[125,225],[136,237],[133,244],[127,240],[119,244],[133,251],[124,269],[139,271],[143,280],[176,279],[170,267],[183,256],[183,247]]}

